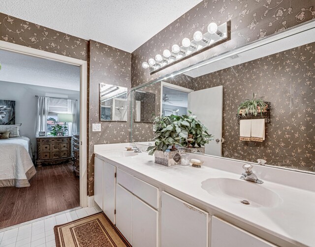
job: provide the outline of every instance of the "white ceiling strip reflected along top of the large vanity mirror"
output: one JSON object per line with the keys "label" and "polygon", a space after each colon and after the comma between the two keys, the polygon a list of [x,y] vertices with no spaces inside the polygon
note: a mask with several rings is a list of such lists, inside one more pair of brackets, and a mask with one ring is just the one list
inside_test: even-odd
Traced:
{"label": "white ceiling strip reflected along top of the large vanity mirror", "polygon": [[[315,29],[313,29],[313,33],[315,35]],[[185,75],[195,78],[309,43],[309,40],[306,39],[304,36],[301,36],[299,40],[296,40],[296,38],[297,37],[292,37],[291,39],[280,39],[274,41],[272,44],[262,45],[257,48],[253,48],[252,50],[239,53],[236,56],[222,59],[217,62],[212,62],[202,67],[190,70],[186,72]],[[299,42],[298,45],[297,41]]]}

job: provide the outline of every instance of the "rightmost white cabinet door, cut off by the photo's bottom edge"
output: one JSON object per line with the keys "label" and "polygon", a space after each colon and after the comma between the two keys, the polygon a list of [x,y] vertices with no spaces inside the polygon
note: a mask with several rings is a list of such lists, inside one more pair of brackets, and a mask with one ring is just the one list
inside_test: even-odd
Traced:
{"label": "rightmost white cabinet door, cut off by the photo's bottom edge", "polygon": [[211,218],[211,247],[276,247],[216,216]]}

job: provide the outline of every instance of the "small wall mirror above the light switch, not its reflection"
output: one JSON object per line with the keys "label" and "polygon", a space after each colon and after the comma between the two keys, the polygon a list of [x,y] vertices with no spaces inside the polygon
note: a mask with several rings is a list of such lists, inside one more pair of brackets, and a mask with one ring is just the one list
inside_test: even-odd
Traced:
{"label": "small wall mirror above the light switch, not its reflection", "polygon": [[128,89],[110,84],[99,84],[100,121],[127,121]]}

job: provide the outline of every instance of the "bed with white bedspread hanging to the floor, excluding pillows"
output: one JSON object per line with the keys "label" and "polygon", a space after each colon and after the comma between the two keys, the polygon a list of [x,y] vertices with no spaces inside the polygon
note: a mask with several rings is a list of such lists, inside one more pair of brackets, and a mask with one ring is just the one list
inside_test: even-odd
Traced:
{"label": "bed with white bedspread hanging to the floor, excluding pillows", "polygon": [[28,187],[35,175],[30,139],[0,139],[0,187]]}

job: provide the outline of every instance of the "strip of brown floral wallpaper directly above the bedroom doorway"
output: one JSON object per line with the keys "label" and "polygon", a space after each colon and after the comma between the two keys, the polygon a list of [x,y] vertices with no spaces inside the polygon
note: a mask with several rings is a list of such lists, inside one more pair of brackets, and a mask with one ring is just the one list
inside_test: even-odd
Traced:
{"label": "strip of brown floral wallpaper directly above the bedroom doorway", "polygon": [[60,54],[88,59],[88,40],[52,30],[0,13],[0,40]]}

